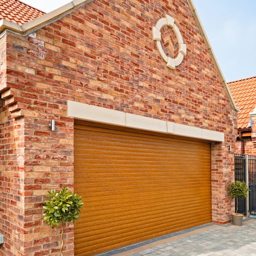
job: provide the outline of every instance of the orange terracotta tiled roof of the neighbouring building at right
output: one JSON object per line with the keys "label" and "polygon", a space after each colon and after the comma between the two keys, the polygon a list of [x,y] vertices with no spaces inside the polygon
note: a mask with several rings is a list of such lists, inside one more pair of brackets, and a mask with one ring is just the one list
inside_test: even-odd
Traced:
{"label": "orange terracotta tiled roof of the neighbouring building at right", "polygon": [[249,112],[256,106],[256,76],[228,82],[237,107],[240,111],[237,115],[237,128],[245,128],[250,120]]}

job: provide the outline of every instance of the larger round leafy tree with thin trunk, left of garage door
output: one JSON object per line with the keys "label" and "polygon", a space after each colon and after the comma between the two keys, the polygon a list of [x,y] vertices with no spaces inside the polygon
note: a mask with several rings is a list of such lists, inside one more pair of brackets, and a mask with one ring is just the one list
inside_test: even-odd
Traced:
{"label": "larger round leafy tree with thin trunk, left of garage door", "polygon": [[65,186],[59,192],[55,190],[48,191],[46,196],[49,199],[43,203],[44,221],[51,227],[61,225],[60,255],[62,256],[63,224],[64,222],[74,222],[79,217],[80,208],[83,204],[82,198],[69,191]]}

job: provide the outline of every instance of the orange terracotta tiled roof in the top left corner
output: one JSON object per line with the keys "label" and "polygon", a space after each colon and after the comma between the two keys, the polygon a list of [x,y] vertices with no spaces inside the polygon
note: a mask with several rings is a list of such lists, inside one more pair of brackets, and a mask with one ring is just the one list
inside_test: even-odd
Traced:
{"label": "orange terracotta tiled roof in the top left corner", "polygon": [[45,14],[45,12],[19,0],[0,0],[0,19],[4,18],[22,25],[43,14]]}

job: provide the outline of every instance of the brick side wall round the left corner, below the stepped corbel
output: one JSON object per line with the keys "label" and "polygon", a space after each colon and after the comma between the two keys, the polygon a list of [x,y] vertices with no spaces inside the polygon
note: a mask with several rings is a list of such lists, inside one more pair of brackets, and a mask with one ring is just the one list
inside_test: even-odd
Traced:
{"label": "brick side wall round the left corner, below the stepped corbel", "polygon": [[0,255],[23,256],[24,118],[13,120],[0,108]]}

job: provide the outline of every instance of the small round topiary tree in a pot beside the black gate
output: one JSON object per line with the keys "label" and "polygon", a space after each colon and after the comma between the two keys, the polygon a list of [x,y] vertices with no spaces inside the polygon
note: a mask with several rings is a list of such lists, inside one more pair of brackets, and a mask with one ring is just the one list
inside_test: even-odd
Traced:
{"label": "small round topiary tree in a pot beside the black gate", "polygon": [[233,225],[239,225],[239,226],[242,225],[243,214],[237,213],[238,198],[241,198],[241,199],[246,198],[248,191],[249,191],[249,188],[244,181],[241,182],[236,180],[230,183],[228,186],[228,194],[231,196],[232,199],[236,198],[235,212],[231,213]]}

